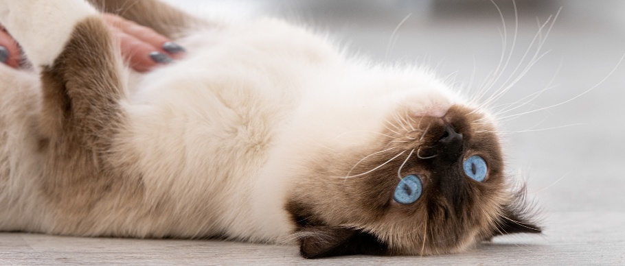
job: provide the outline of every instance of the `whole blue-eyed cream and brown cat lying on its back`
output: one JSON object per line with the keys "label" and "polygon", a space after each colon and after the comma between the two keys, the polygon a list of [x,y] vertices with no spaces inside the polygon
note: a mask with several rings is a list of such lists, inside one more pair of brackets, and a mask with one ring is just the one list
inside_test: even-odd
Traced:
{"label": "whole blue-eyed cream and brown cat lying on its back", "polygon": [[93,6],[187,56],[131,73],[84,0],[0,1],[33,66],[0,66],[0,230],[298,242],[307,258],[541,232],[494,119],[432,73],[350,58],[282,21]]}

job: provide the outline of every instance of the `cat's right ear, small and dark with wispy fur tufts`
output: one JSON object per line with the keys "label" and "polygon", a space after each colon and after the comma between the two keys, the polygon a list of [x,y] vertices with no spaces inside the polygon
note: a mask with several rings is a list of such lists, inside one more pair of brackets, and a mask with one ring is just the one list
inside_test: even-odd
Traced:
{"label": "cat's right ear, small and dark with wispy fur tufts", "polygon": [[497,229],[493,232],[494,236],[518,233],[540,234],[543,229],[534,222],[535,219],[532,217],[534,215],[528,208],[521,208],[518,204],[505,206],[497,223]]}

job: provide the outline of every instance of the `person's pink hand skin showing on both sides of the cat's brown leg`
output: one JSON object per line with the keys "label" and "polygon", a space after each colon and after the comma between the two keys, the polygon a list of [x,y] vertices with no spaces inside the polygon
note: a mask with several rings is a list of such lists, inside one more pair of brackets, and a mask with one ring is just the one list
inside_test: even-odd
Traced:
{"label": "person's pink hand skin showing on both sides of the cat's brown leg", "polygon": [[[181,58],[184,54],[183,52],[168,53],[163,49],[163,44],[170,40],[148,27],[113,14],[102,14],[102,18],[113,32],[113,36],[120,41],[122,56],[135,71],[147,72],[161,65],[150,58],[150,53],[153,51],[163,53],[172,59]],[[19,46],[2,25],[0,25],[0,46],[5,47],[9,52],[5,64],[19,68],[21,60]]]}

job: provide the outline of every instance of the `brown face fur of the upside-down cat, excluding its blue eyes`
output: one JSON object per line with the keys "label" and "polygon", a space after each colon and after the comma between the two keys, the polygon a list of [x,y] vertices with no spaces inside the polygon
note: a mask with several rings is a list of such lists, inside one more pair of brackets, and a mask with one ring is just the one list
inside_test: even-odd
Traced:
{"label": "brown face fur of the upside-down cat, excluding its blue eyes", "polygon": [[[302,232],[314,234],[319,227],[348,226],[384,243],[385,254],[458,252],[492,237],[501,223],[501,215],[513,215],[508,213],[508,206],[514,204],[511,201],[516,196],[505,179],[494,126],[474,123],[484,117],[472,111],[464,106],[453,106],[443,119],[410,117],[405,113],[395,121],[410,121],[411,125],[387,125],[383,130],[386,136],[378,137],[367,149],[351,154],[313,156],[324,158],[312,162],[316,167],[308,174],[315,178],[302,178],[303,184],[292,194],[286,209]],[[416,154],[427,158],[441,152],[437,141],[444,134],[445,123],[463,134],[462,156],[453,161],[442,161],[441,156],[417,158]],[[380,152],[383,150],[387,152]],[[411,151],[411,158],[407,159]],[[370,156],[376,152],[380,153]],[[462,169],[462,162],[476,154],[488,163],[489,173],[484,182],[471,180]],[[359,162],[365,157],[366,160]],[[405,205],[392,199],[400,180],[398,169],[404,162],[401,177],[418,174],[423,183],[417,202]],[[383,166],[376,171],[357,176],[380,165]],[[371,244],[377,245],[376,242]],[[302,245],[302,252],[306,253],[304,248]]]}

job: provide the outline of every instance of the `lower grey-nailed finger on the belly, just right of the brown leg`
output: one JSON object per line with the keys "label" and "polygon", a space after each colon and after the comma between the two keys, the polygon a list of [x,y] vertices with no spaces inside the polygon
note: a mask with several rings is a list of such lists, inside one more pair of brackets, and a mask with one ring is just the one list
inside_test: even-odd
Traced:
{"label": "lower grey-nailed finger on the belly, just right of the brown leg", "polygon": [[163,53],[156,51],[155,47],[126,34],[115,32],[120,38],[122,56],[128,60],[130,67],[139,72],[147,72],[162,64],[169,64],[172,59]]}

